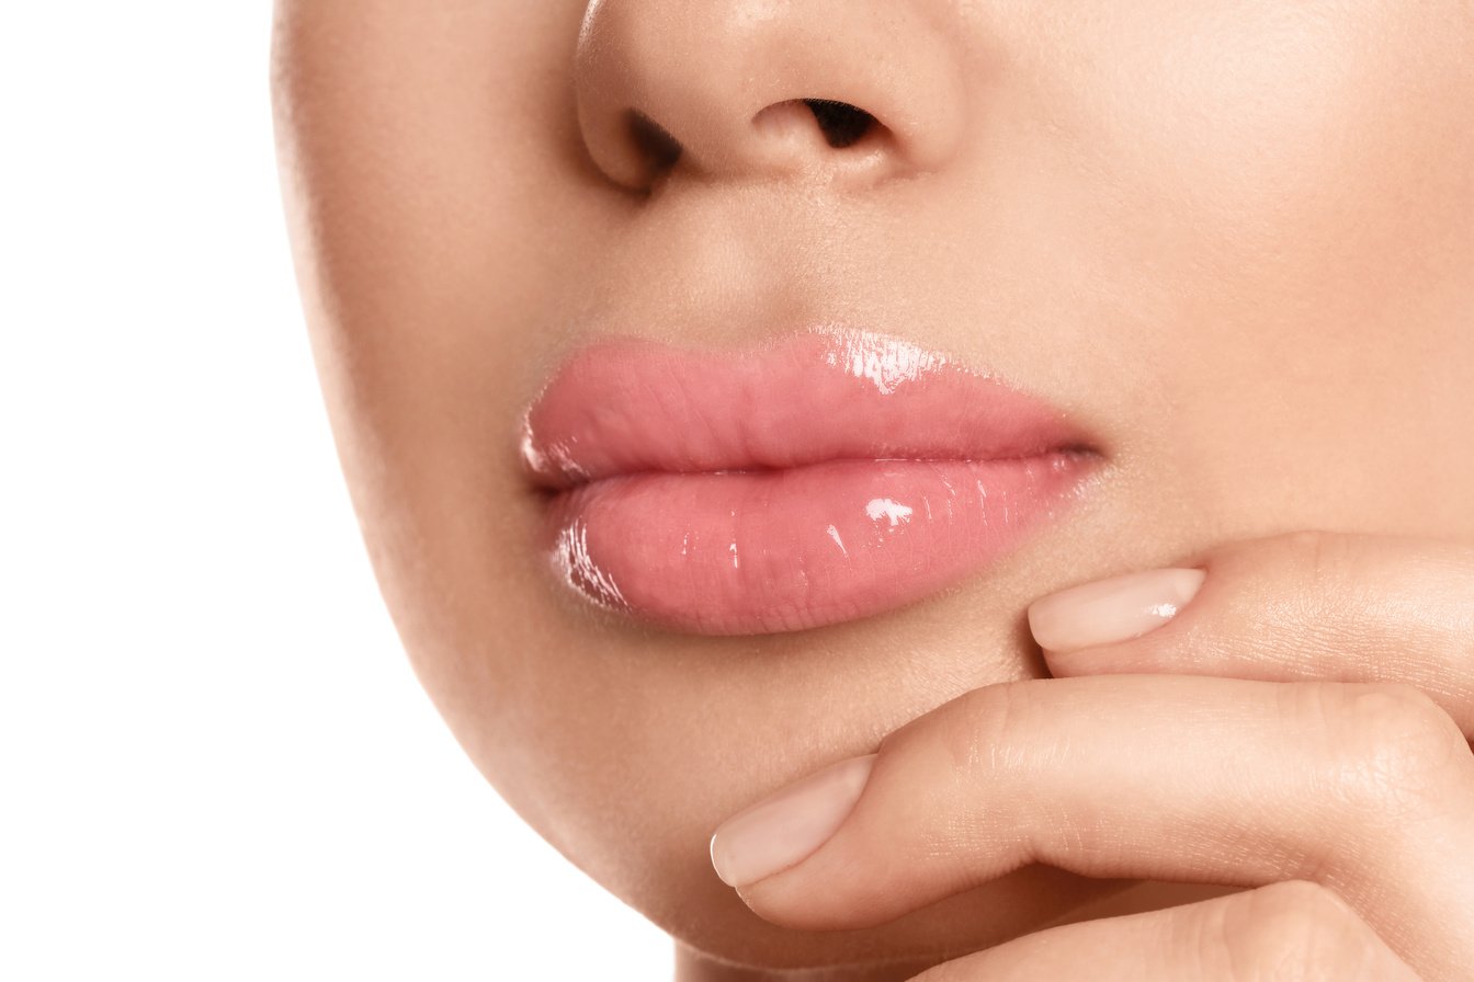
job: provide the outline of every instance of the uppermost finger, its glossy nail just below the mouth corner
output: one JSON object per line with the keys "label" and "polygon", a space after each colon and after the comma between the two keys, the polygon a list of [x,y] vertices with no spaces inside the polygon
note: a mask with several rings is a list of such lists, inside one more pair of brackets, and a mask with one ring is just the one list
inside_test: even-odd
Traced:
{"label": "uppermost finger, its glossy nail just below the mouth corner", "polygon": [[1400,682],[1474,738],[1474,548],[1316,531],[1187,567],[1030,605],[1049,671]]}

